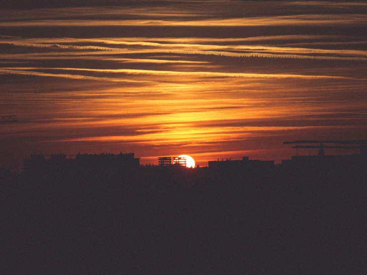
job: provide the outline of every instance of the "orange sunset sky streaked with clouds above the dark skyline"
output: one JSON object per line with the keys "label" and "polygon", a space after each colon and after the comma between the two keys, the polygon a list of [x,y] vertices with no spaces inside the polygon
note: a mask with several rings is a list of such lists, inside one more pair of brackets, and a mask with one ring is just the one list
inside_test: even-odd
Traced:
{"label": "orange sunset sky streaked with clouds above the dark skyline", "polygon": [[289,159],[367,139],[364,1],[0,4],[0,166],[31,153]]}

